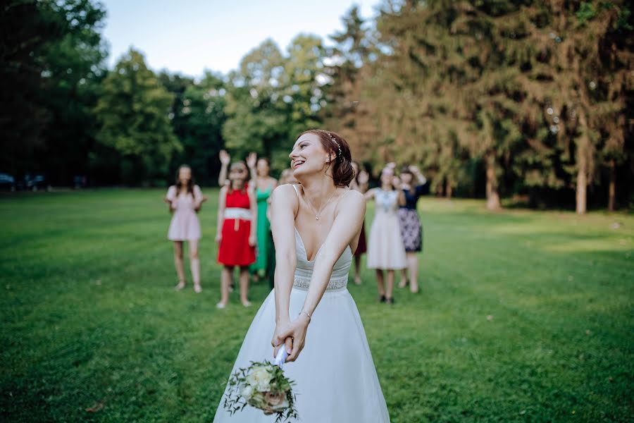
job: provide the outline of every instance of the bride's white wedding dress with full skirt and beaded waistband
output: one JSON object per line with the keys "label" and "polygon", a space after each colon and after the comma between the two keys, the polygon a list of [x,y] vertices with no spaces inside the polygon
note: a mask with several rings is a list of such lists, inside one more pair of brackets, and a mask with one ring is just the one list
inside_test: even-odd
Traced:
{"label": "bride's white wedding dress with full skirt and beaded waistband", "polygon": [[[306,257],[302,237],[295,229],[297,269],[290,295],[290,317],[297,317],[304,305],[313,264]],[[295,381],[299,422],[384,423],[390,422],[383,392],[361,324],[359,311],[346,286],[352,262],[348,246],[332,270],[321,302],[313,313],[304,350],[297,361],[284,366],[285,375]],[[244,338],[232,373],[251,361],[273,361],[271,338],[275,331],[275,293],[264,300]],[[214,423],[274,422],[275,415],[247,407],[230,415],[220,399]]]}

